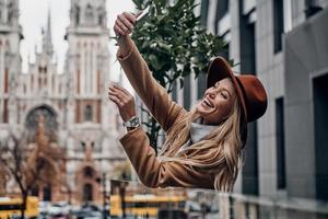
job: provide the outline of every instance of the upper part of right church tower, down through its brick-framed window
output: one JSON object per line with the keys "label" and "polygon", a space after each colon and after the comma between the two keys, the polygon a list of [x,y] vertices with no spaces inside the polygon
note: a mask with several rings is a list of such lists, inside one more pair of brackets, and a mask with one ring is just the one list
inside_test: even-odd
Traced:
{"label": "upper part of right church tower, down through its brick-framed window", "polygon": [[[109,51],[105,0],[71,0],[68,71],[75,113],[70,124],[102,123],[102,96],[108,81]],[[91,101],[92,100],[92,101]],[[105,124],[103,124],[105,125]]]}

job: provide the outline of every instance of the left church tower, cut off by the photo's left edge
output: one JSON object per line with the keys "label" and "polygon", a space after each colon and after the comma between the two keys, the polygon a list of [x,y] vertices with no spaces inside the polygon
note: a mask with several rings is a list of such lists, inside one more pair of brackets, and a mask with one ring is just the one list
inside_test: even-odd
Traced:
{"label": "left church tower, cut off by the photo's left edge", "polygon": [[19,0],[0,0],[0,123],[15,125],[15,89],[21,71]]}

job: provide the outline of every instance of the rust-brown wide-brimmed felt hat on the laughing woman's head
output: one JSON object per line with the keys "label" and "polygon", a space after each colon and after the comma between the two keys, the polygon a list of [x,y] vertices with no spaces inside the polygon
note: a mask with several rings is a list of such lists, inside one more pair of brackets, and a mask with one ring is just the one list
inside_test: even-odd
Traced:
{"label": "rust-brown wide-brimmed felt hat on the laughing woman's head", "polygon": [[213,87],[216,81],[227,77],[232,79],[247,123],[261,117],[268,105],[267,93],[262,83],[253,74],[235,76],[223,57],[216,57],[211,61],[207,88]]}

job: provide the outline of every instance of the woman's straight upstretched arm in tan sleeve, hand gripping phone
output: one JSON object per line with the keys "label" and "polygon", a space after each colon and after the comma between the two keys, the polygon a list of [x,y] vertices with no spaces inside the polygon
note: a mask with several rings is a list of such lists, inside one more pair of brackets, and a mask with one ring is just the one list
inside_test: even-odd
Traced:
{"label": "woman's straight upstretched arm in tan sleeve, hand gripping phone", "polygon": [[138,95],[166,131],[186,111],[172,101],[166,90],[152,77],[147,62],[129,36],[133,22],[133,16],[128,13],[119,15],[116,21],[114,28],[119,35],[117,58]]}

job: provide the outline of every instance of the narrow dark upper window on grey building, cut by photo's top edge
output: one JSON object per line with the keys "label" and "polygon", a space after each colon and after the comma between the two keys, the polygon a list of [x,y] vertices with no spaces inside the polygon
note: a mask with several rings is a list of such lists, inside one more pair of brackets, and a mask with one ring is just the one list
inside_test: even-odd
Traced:
{"label": "narrow dark upper window on grey building, cut by photo's top edge", "polygon": [[273,1],[273,38],[274,38],[274,54],[282,49],[282,34],[283,34],[283,0]]}

